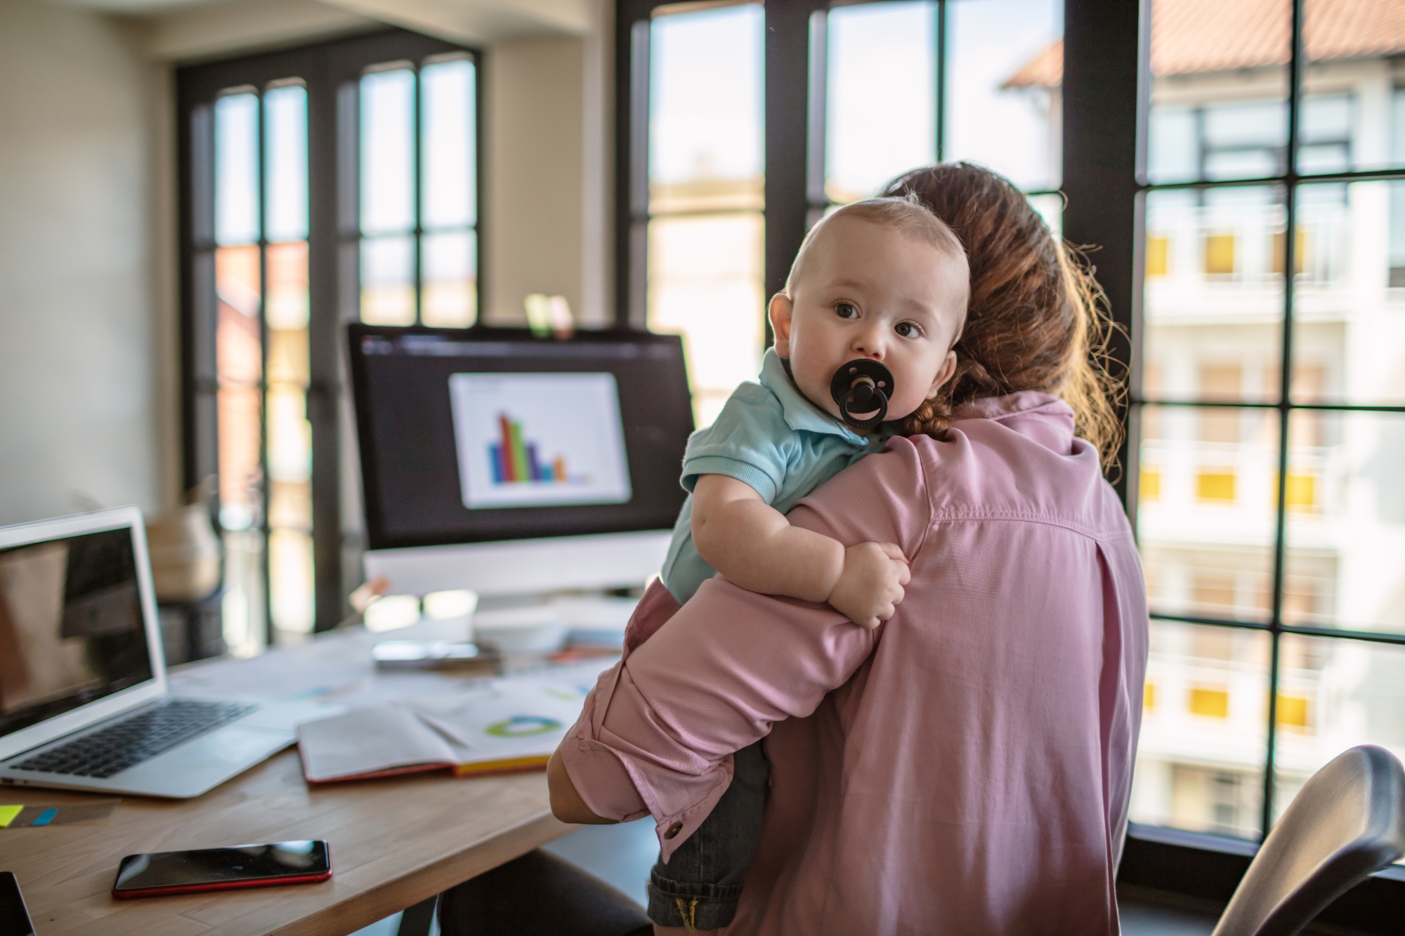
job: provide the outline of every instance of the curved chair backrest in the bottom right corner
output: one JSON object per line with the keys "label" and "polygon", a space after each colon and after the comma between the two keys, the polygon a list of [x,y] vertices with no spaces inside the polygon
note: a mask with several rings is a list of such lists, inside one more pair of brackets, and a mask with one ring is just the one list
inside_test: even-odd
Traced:
{"label": "curved chair backrest in the bottom right corner", "polygon": [[1405,854],[1405,770],[1352,748],[1302,786],[1235,888],[1214,936],[1293,936]]}

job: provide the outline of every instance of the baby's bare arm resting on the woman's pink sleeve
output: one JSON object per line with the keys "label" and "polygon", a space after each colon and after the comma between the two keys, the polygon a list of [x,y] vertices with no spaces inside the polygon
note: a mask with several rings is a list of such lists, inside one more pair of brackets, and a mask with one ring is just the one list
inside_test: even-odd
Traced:
{"label": "baby's bare arm resting on the woman's pink sleeve", "polygon": [[837,540],[792,527],[743,481],[702,475],[693,489],[693,545],[708,565],[749,592],[828,602],[867,628],[892,617],[908,561],[891,542]]}

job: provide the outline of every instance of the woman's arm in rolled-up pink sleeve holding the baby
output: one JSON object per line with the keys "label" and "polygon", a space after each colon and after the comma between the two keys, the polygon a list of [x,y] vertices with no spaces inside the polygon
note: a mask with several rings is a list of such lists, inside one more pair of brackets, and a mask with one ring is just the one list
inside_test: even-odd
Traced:
{"label": "woman's arm in rolled-up pink sleeve holding the baby", "polygon": [[[794,526],[842,544],[888,540],[906,555],[920,548],[929,519],[922,464],[903,438],[840,472],[790,514]],[[627,819],[648,810],[669,853],[721,797],[729,755],[764,738],[774,721],[811,714],[868,658],[880,632],[853,627],[823,604],[704,582],[586,700],[559,749],[572,788],[596,817]],[[565,795],[562,805],[570,807]]]}

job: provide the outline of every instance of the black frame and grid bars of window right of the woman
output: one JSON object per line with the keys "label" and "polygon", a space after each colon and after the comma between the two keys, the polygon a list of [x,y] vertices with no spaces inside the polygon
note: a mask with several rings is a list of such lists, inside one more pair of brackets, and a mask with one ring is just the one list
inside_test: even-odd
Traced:
{"label": "black frame and grid bars of window right of the woman", "polygon": [[[1304,93],[1304,76],[1307,72],[1307,53],[1304,49],[1305,0],[1283,0],[1291,8],[1291,51],[1288,60],[1288,96],[1287,110],[1287,143],[1280,160],[1281,173],[1255,178],[1232,180],[1196,180],[1175,183],[1152,183],[1148,177],[1146,138],[1151,117],[1151,0],[1138,0],[1137,4],[1120,4],[1116,0],[1083,0],[1069,1],[1066,6],[1065,22],[1065,73],[1064,73],[1064,105],[1065,105],[1065,193],[1068,194],[1068,209],[1065,211],[1065,238],[1073,243],[1104,245],[1096,254],[1097,278],[1109,294],[1114,319],[1127,332],[1118,336],[1118,346],[1114,349],[1114,358],[1130,370],[1130,394],[1124,408],[1124,426],[1127,427],[1125,441],[1121,450],[1120,464],[1124,465],[1121,478],[1114,483],[1123,496],[1128,516],[1135,524],[1139,490],[1138,482],[1141,471],[1138,464],[1138,443],[1141,436],[1141,412],[1146,405],[1161,408],[1196,408],[1196,409],[1235,409],[1235,410],[1276,410],[1279,427],[1279,458],[1277,458],[1277,490],[1274,503],[1274,538],[1270,596],[1270,614],[1266,623],[1245,620],[1228,620],[1215,617],[1201,617],[1191,614],[1152,613],[1155,621],[1169,621],[1182,624],[1198,624],[1210,627],[1224,627],[1242,631],[1266,632],[1270,638],[1269,672],[1267,672],[1267,735],[1264,743],[1263,790],[1260,798],[1260,828],[1263,835],[1273,828],[1274,798],[1277,795],[1274,762],[1276,741],[1279,731],[1279,682],[1280,682],[1280,648],[1286,634],[1305,637],[1332,638],[1340,641],[1363,641],[1405,646],[1405,634],[1391,634],[1384,631],[1354,631],[1346,628],[1308,627],[1301,624],[1283,623],[1283,604],[1287,586],[1287,523],[1288,523],[1288,455],[1290,434],[1288,420],[1293,412],[1333,412],[1333,413],[1405,413],[1405,406],[1391,405],[1363,405],[1363,403],[1295,403],[1291,395],[1291,381],[1294,374],[1294,309],[1297,290],[1295,277],[1288,271],[1297,267],[1297,193],[1302,184],[1316,183],[1352,183],[1374,180],[1405,180],[1405,167],[1347,170],[1336,173],[1300,173],[1298,159],[1302,142],[1301,114],[1307,98]],[[1134,17],[1130,13],[1135,11]],[[1132,38],[1135,37],[1135,46]],[[1131,51],[1135,48],[1135,80],[1130,83],[1137,87],[1137,101],[1130,105],[1125,96],[1118,94],[1120,89],[1109,87],[1111,77],[1107,72],[1114,72],[1117,77],[1125,80],[1127,69],[1131,65]],[[1076,103],[1071,103],[1071,76],[1073,77],[1073,91]],[[1116,166],[1103,166],[1097,171],[1087,173],[1086,169],[1096,163],[1083,163],[1080,159],[1093,159],[1099,146],[1096,136],[1082,132],[1069,132],[1071,122],[1076,126],[1079,121],[1089,119],[1103,111],[1109,125],[1100,128],[1107,134],[1104,139],[1128,141],[1135,139],[1135,153],[1131,164],[1125,153]],[[1071,121],[1071,117],[1073,118]],[[1069,138],[1075,146],[1082,146],[1083,152],[1071,153]],[[1069,166],[1079,166],[1085,171],[1076,188],[1071,188]],[[1107,173],[1106,176],[1103,173]],[[1103,211],[1114,212],[1116,223],[1121,226],[1121,235],[1114,226],[1109,226],[1109,218],[1099,218],[1089,214],[1090,202],[1100,197],[1099,186],[1113,187],[1117,197]],[[1283,329],[1280,358],[1279,358],[1279,386],[1277,402],[1222,402],[1208,399],[1149,399],[1142,388],[1142,339],[1144,329],[1144,282],[1145,282],[1145,242],[1146,242],[1146,198],[1156,191],[1208,191],[1214,188],[1234,187],[1280,187],[1284,197],[1284,232],[1283,232],[1283,260],[1281,271],[1276,275],[1283,282],[1283,313],[1280,325]],[[1128,193],[1128,187],[1131,191]],[[1130,218],[1128,218],[1130,215]],[[1072,218],[1072,221],[1071,221]],[[1131,221],[1132,238],[1127,238],[1127,221]],[[1130,315],[1120,313],[1127,309]],[[1118,873],[1120,883],[1151,887],[1159,890],[1173,890],[1197,898],[1207,898],[1217,902],[1229,899],[1234,887],[1248,869],[1249,859],[1257,846],[1252,842],[1231,839],[1217,835],[1203,835],[1162,829],[1155,826],[1139,826],[1132,824],[1128,833],[1127,856]],[[1179,887],[1166,888],[1162,881],[1166,877],[1176,880]],[[1374,874],[1366,883],[1353,888],[1336,902],[1333,902],[1319,916],[1321,922],[1338,923],[1361,929],[1364,932],[1391,932],[1398,928],[1398,921],[1391,919],[1390,906],[1398,906],[1405,898],[1405,867],[1394,866]]]}

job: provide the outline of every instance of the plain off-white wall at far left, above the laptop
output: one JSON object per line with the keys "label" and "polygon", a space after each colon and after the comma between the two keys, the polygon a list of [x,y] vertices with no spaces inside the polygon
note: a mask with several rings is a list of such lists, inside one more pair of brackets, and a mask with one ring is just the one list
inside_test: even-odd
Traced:
{"label": "plain off-white wall at far left, above the laptop", "polygon": [[171,483],[152,84],[111,20],[0,0],[0,524]]}

